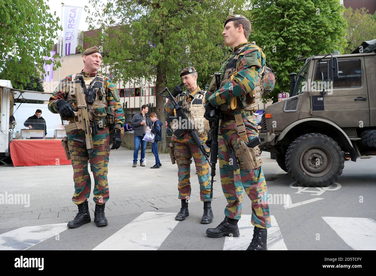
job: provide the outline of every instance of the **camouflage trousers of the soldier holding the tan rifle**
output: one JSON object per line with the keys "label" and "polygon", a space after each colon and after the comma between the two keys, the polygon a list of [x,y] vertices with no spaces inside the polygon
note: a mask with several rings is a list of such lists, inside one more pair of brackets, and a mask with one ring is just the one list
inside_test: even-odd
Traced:
{"label": "camouflage trousers of the soldier holding the tan rifle", "polygon": [[[88,152],[85,145],[75,142],[73,139],[78,138],[85,140],[82,130],[72,130],[67,133],[68,147],[72,157],[74,195],[72,201],[75,204],[85,202],[91,192],[91,178],[89,175]],[[94,198],[93,201],[97,205],[106,203],[109,199],[109,190],[107,183],[107,166],[110,154],[110,133],[109,128],[99,129],[98,134],[92,136],[93,154],[91,158],[91,166],[94,175]],[[73,160],[73,156],[78,156],[82,160]],[[85,160],[86,159],[86,160]]]}

